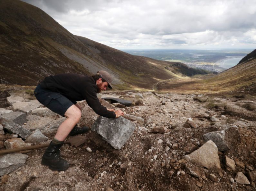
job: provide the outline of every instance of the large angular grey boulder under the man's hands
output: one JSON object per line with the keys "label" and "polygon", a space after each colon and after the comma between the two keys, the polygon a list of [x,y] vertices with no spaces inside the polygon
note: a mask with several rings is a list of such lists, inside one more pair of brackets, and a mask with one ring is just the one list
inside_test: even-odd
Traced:
{"label": "large angular grey boulder under the man's hands", "polygon": [[123,117],[109,119],[100,116],[91,129],[97,131],[115,149],[121,149],[132,135],[135,124]]}

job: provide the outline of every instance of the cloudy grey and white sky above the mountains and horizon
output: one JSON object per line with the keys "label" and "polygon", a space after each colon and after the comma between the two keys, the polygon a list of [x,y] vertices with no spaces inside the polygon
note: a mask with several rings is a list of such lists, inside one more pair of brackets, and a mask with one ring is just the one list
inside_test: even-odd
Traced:
{"label": "cloudy grey and white sky above the mountains and horizon", "polygon": [[23,0],[117,49],[256,48],[255,0]]}

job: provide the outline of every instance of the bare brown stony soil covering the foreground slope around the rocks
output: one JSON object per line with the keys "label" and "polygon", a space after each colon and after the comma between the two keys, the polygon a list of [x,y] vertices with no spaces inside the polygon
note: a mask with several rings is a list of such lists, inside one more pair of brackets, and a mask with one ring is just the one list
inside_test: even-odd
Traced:
{"label": "bare brown stony soil covering the foreground slope around the rocks", "polygon": [[[136,93],[141,93],[143,98]],[[235,179],[237,172],[242,171],[248,177],[248,172],[256,170],[255,111],[241,107],[248,102],[255,105],[254,96],[245,95],[240,98],[241,102],[235,101],[237,98],[230,95],[199,95],[208,97],[206,102],[199,102],[194,99],[197,95],[193,94],[135,91],[107,92],[101,97],[128,99],[130,95],[135,95],[134,99],[142,102],[137,102],[140,104],[133,107],[115,108],[101,100],[108,108],[122,109],[145,120],[143,126],[135,121],[135,131],[122,149],[114,149],[97,132],[90,130],[84,134],[87,141],[83,145],[77,148],[63,145],[62,157],[71,164],[68,170],[50,170],[41,164],[45,148],[32,150],[27,153],[24,166],[1,177],[0,190],[108,190],[109,187],[113,190],[255,190],[255,181],[251,181],[250,185],[230,181],[230,178]],[[80,104],[83,116],[79,125],[91,127],[97,114],[86,102]],[[227,105],[235,112],[223,116]],[[237,107],[241,108],[240,114]],[[219,121],[213,122],[207,115],[215,116]],[[250,120],[241,116],[247,116]],[[196,128],[183,127],[188,118],[194,120]],[[230,150],[219,152],[222,170],[198,167],[204,175],[199,178],[190,175],[185,170],[187,162],[182,158],[187,154],[184,147],[188,143],[200,147],[205,143],[205,133],[234,125],[238,128],[229,133],[227,140],[231,143]],[[166,127],[167,132],[151,133],[150,129],[155,126]],[[42,130],[49,139],[54,137],[56,131]],[[7,139],[11,135],[6,133],[5,136]],[[177,149],[172,148],[175,143]],[[170,150],[166,151],[166,146]],[[88,152],[87,147],[92,152]],[[154,156],[156,159],[153,159]],[[235,170],[228,169],[225,156],[244,163],[245,167],[236,165]],[[218,180],[208,179],[209,174],[214,174]]]}

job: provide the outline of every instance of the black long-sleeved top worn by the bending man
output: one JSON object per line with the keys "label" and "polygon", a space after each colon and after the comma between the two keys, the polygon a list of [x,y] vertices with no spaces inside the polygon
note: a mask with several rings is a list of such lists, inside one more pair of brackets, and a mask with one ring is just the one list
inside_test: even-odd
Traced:
{"label": "black long-sleeved top worn by the bending man", "polygon": [[41,83],[41,87],[58,92],[72,102],[86,100],[87,104],[95,113],[107,118],[115,118],[116,114],[110,112],[100,104],[97,97],[96,81],[91,76],[81,74],[57,74],[46,77]]}

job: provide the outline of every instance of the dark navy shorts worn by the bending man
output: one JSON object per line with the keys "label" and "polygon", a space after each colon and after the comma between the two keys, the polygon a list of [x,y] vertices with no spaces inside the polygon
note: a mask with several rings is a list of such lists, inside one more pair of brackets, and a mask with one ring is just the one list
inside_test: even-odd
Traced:
{"label": "dark navy shorts worn by the bending man", "polygon": [[76,104],[58,92],[43,89],[40,84],[35,88],[34,95],[41,104],[63,117],[68,108]]}

